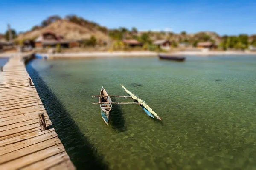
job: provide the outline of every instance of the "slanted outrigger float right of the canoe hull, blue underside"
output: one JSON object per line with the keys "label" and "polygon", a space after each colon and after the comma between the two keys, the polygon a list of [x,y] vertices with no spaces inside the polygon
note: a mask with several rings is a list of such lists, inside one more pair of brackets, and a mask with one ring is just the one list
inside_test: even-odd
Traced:
{"label": "slanted outrigger float right of the canoe hull, blue underside", "polygon": [[155,116],[157,119],[161,120],[160,117],[157,115],[157,113],[155,113],[143,100],[139,99],[137,96],[132,94],[124,86],[122,86],[122,88],[125,89],[125,92],[128,93],[129,96],[131,96],[131,98],[134,100],[134,102],[137,102],[140,105],[140,107],[143,109],[143,111],[145,111],[145,113],[148,116],[150,116],[152,118],[154,118],[154,116]]}

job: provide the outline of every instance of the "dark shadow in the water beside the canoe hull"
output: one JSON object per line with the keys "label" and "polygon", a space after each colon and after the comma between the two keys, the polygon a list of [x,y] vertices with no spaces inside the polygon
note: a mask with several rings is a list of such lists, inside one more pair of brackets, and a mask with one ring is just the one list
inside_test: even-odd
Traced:
{"label": "dark shadow in the water beside the canoe hull", "polygon": [[[112,98],[112,102],[116,102],[116,99]],[[113,129],[119,133],[125,132],[127,130],[127,126],[125,124],[125,117],[123,116],[120,105],[112,105],[109,122]]]}

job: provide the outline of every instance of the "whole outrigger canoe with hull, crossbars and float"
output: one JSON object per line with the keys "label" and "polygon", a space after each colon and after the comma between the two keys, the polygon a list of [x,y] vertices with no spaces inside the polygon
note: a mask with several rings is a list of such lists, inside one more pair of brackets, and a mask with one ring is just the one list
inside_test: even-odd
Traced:
{"label": "whole outrigger canoe with hull, crossbars and float", "polygon": [[[102,87],[99,96],[92,96],[92,97],[99,97],[99,102],[98,103],[93,103],[94,104],[99,104],[100,109],[101,109],[101,115],[102,119],[104,122],[108,125],[109,122],[109,115],[110,111],[112,108],[112,104],[137,104],[140,105],[140,107],[145,111],[145,113],[154,118],[154,116],[161,120],[160,117],[155,113],[143,100],[139,99],[137,96],[132,94],[130,91],[128,91],[123,85],[121,85],[122,88],[125,90],[125,92],[129,96],[109,96],[105,88]],[[126,102],[126,103],[117,103],[117,102],[112,102],[111,97],[123,97],[123,98],[132,98],[134,102]]]}

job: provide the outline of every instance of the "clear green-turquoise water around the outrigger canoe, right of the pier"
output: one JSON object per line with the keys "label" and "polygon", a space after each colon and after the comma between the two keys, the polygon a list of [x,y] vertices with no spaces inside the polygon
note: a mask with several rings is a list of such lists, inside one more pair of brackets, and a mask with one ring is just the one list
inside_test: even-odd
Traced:
{"label": "clear green-turquoise water around the outrigger canoe, right of the pier", "polygon": [[[44,61],[27,66],[59,138],[78,169],[256,169],[256,56]],[[110,125],[93,95],[127,95]],[[113,98],[113,102],[133,102]]]}

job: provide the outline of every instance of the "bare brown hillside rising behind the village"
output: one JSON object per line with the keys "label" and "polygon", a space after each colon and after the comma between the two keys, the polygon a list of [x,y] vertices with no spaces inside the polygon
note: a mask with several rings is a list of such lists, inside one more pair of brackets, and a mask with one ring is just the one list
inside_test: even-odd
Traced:
{"label": "bare brown hillside rising behind the village", "polygon": [[46,31],[64,36],[67,40],[82,40],[95,36],[98,40],[107,40],[108,36],[97,27],[86,27],[67,20],[57,20],[45,27],[38,27],[33,31],[20,34],[17,40],[35,39]]}

